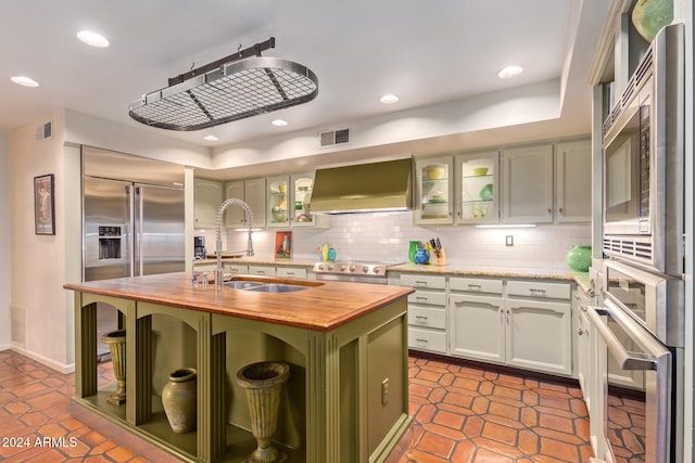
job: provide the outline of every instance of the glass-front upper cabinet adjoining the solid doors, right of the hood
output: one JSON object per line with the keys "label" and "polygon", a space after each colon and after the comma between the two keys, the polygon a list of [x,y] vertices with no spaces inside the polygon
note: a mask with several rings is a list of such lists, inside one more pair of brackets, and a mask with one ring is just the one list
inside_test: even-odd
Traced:
{"label": "glass-front upper cabinet adjoining the solid doors, right of the hood", "polygon": [[497,223],[500,153],[459,154],[455,162],[456,223]]}

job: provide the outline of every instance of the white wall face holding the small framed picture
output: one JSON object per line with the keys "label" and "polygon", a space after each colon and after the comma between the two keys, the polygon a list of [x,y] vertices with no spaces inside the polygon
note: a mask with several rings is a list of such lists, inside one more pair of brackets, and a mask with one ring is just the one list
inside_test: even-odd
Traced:
{"label": "white wall face holding the small framed picture", "polygon": [[[53,123],[53,137],[36,140],[36,127]],[[51,368],[67,372],[72,339],[64,305],[65,221],[63,173],[63,113],[10,132],[10,191],[12,200],[12,348]],[[34,221],[34,178],[55,179],[55,235],[37,235]],[[73,207],[68,205],[67,207]]]}

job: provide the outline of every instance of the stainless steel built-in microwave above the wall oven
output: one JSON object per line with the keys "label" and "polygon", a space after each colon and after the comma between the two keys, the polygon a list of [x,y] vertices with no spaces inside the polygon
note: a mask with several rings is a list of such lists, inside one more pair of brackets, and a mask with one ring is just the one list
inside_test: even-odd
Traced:
{"label": "stainless steel built-in microwave above the wall oven", "polygon": [[604,124],[604,253],[683,271],[683,26],[654,39]]}

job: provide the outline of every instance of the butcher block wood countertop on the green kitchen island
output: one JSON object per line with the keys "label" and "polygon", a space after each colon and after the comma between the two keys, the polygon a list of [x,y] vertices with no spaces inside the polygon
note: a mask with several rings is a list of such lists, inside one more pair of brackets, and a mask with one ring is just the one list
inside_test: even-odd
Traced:
{"label": "butcher block wood countertop on the green kitchen island", "polygon": [[239,280],[267,281],[307,286],[291,293],[256,293],[191,284],[191,274],[156,275],[71,283],[64,287],[79,293],[126,298],[200,310],[229,317],[328,332],[406,297],[414,290],[386,284],[317,282],[308,280],[239,276]]}

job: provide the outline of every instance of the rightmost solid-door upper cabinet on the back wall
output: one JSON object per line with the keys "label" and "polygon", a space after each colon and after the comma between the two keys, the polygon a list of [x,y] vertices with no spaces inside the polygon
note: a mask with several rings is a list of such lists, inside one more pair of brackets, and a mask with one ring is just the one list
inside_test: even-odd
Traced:
{"label": "rightmost solid-door upper cabinet on the back wall", "polygon": [[558,223],[591,222],[591,140],[557,144],[555,217]]}

